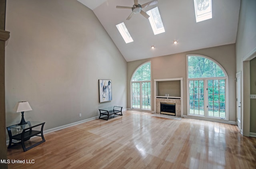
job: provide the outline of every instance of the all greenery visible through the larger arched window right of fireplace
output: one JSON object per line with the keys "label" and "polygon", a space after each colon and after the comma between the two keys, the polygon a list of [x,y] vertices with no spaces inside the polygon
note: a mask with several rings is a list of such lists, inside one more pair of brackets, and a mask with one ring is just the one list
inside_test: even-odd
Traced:
{"label": "all greenery visible through the larger arched window right of fireplace", "polygon": [[[213,61],[204,57],[188,57],[188,78],[225,77],[223,70]],[[204,83],[208,88],[208,103],[204,102]],[[189,81],[189,113],[204,115],[204,105],[208,106],[208,116],[226,117],[225,79]]]}

